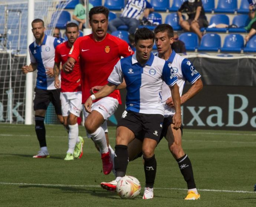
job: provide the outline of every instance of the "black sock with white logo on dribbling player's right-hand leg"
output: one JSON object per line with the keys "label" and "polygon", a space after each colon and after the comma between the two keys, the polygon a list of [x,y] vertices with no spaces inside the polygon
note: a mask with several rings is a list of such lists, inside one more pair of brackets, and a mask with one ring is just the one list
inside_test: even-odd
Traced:
{"label": "black sock with white logo on dribbling player's right-hand leg", "polygon": [[146,186],[149,188],[153,188],[155,182],[155,174],[157,173],[157,160],[155,159],[155,155],[150,158],[145,158],[144,163],[144,172],[146,177]]}

